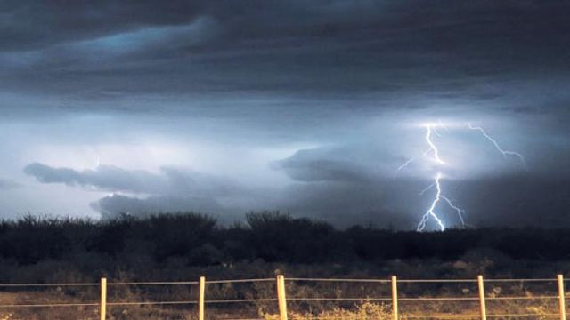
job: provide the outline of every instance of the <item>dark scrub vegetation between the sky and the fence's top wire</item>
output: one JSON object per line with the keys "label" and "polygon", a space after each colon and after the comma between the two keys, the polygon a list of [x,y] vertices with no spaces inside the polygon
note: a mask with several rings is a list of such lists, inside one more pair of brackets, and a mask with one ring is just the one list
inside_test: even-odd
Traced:
{"label": "dark scrub vegetation between the sky and the fence's top wire", "polygon": [[[243,270],[244,266],[256,269],[262,265],[305,266],[296,270],[337,266],[327,268],[332,275],[362,272],[389,276],[397,270],[407,277],[474,276],[481,272],[545,276],[566,270],[566,264],[560,262],[570,258],[568,231],[337,229],[279,212],[249,213],[243,223],[231,226],[218,225],[197,213],[142,219],[125,215],[101,221],[25,217],[0,222],[0,282],[93,280],[103,275],[187,279],[199,275],[191,271],[205,269],[216,270],[215,276],[224,276],[223,270],[241,270],[236,272],[242,276],[273,273],[270,268]],[[156,273],[165,268],[184,272]],[[420,273],[414,271],[417,269]]]}

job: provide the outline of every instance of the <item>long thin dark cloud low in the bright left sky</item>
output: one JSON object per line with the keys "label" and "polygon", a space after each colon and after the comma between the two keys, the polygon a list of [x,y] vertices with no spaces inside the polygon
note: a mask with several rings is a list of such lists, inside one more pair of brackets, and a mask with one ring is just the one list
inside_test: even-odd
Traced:
{"label": "long thin dark cloud low in the bright left sky", "polygon": [[240,186],[232,180],[174,168],[161,168],[159,173],[152,173],[100,165],[95,170],[77,171],[36,163],[28,164],[24,172],[42,183],[63,183],[110,192],[169,196],[232,196],[241,192]]}

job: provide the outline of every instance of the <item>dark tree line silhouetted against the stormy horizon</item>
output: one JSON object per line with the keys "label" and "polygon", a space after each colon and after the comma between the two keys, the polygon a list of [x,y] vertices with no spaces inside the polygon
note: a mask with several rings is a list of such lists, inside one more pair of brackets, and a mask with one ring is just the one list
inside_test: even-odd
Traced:
{"label": "dark tree line silhouetted against the stormy horizon", "polygon": [[113,220],[28,216],[0,222],[0,258],[19,265],[77,260],[95,253],[120,263],[143,256],[155,263],[176,258],[187,266],[263,260],[343,263],[395,259],[455,260],[469,250],[493,249],[512,259],[570,257],[568,229],[482,228],[444,232],[395,231],[371,226],[338,229],[280,212],[251,212],[222,226],[199,213],[123,215]]}

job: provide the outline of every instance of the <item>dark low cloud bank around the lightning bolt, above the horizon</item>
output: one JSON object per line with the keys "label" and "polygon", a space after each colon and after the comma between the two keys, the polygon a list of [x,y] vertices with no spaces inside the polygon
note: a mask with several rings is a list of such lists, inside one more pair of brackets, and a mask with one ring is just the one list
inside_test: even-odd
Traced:
{"label": "dark low cloud bank around the lightning bolt, above the horizon", "polygon": [[[481,142],[481,147],[489,147],[488,141]],[[493,147],[489,148],[489,153],[474,152],[479,146],[471,144],[474,149],[463,149],[461,153],[489,157],[484,159],[485,170],[496,167],[496,172],[487,172],[486,176],[455,177],[450,165],[444,169],[450,179],[442,181],[444,195],[466,209],[465,218],[469,224],[477,227],[557,227],[570,223],[567,197],[570,171],[567,168],[552,164],[548,168],[538,166],[525,171],[516,161],[496,154]],[[552,159],[567,158],[567,151],[567,148],[550,149],[549,155],[557,152]],[[379,155],[381,153],[371,146],[344,145],[301,150],[273,164],[275,169],[297,181],[284,191],[281,207],[339,226],[373,223],[382,227],[415,228],[433,200],[433,189],[421,193],[433,183],[430,173],[424,171],[432,171],[421,168],[419,172],[423,175],[414,173],[410,176],[408,172],[417,170],[411,164],[403,172],[396,172],[397,166],[406,159]],[[452,163],[456,161],[449,158],[451,155],[445,156]],[[386,167],[379,167],[379,159]],[[475,162],[470,165],[474,171],[480,168]],[[515,170],[509,171],[509,168]],[[437,211],[446,225],[460,224],[456,213],[445,205],[440,205]]]}

